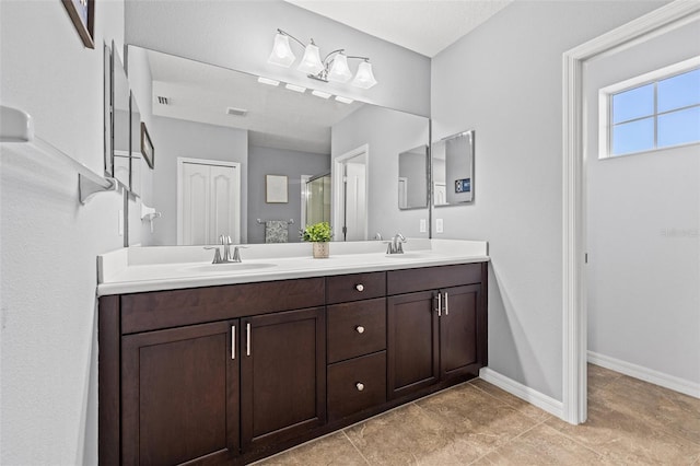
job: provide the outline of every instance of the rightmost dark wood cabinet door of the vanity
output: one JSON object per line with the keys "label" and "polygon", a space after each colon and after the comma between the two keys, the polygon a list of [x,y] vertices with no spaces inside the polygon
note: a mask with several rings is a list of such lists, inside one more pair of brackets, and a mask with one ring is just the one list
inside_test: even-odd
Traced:
{"label": "rightmost dark wood cabinet door of the vanity", "polygon": [[481,287],[469,284],[441,291],[440,377],[478,375],[477,310]]}

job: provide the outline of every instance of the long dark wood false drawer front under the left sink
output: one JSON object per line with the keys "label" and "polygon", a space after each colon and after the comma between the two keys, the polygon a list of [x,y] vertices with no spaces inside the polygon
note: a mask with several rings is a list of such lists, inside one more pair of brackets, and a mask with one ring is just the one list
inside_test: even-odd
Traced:
{"label": "long dark wood false drawer front under the left sink", "polygon": [[323,304],[323,278],[125,294],[121,296],[121,334]]}

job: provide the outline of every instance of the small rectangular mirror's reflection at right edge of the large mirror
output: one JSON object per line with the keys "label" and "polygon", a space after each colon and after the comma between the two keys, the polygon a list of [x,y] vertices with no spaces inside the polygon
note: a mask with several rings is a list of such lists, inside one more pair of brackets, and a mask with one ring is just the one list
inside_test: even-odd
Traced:
{"label": "small rectangular mirror's reflection at right edge of the large mirror", "polygon": [[428,145],[398,154],[398,208],[428,207]]}

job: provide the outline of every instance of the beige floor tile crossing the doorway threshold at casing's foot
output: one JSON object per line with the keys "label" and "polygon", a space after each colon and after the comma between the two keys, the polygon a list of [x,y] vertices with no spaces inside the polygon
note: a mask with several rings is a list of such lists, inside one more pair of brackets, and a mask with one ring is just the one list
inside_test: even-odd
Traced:
{"label": "beige floor tile crossing the doorway threshold at casing's foot", "polygon": [[583,424],[557,418],[546,423],[618,464],[690,465],[700,454],[700,445],[596,400],[590,400],[588,420]]}

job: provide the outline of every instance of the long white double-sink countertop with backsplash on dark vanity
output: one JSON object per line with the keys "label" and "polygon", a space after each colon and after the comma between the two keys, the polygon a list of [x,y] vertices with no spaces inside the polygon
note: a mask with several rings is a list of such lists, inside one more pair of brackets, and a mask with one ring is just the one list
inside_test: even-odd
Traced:
{"label": "long white double-sink countertop with backsplash on dark vanity", "polygon": [[[242,264],[212,265],[201,246],[129,247],[97,258],[97,295],[324,277],[489,260],[483,241],[409,238],[405,254],[386,255],[377,241],[330,243],[330,257],[314,259],[308,243],[255,244]],[[233,247],[233,246],[232,246]]]}

